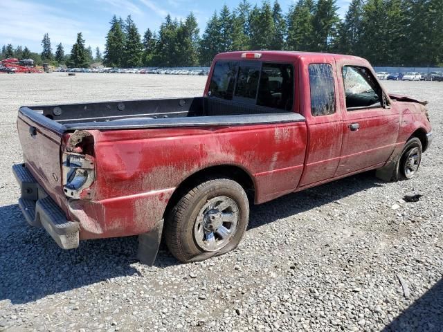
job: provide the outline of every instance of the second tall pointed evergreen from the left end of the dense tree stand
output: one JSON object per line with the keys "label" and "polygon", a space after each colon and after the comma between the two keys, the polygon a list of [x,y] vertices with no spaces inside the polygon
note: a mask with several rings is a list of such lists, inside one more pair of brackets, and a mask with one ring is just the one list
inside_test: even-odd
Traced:
{"label": "second tall pointed evergreen from the left end of the dense tree stand", "polygon": [[143,45],[141,44],[140,34],[131,15],[125,21],[125,57],[124,66],[138,67],[142,64]]}

